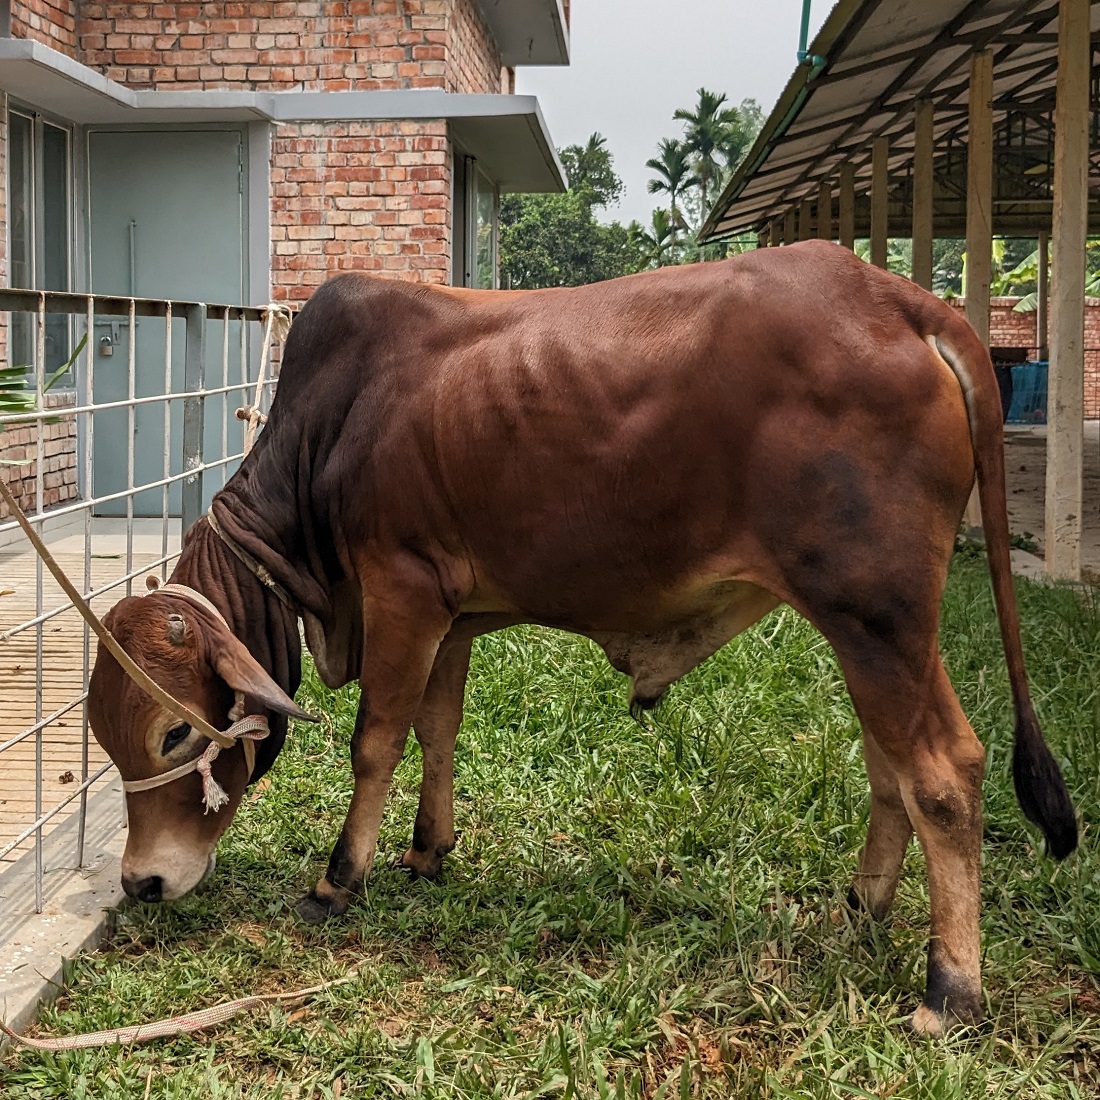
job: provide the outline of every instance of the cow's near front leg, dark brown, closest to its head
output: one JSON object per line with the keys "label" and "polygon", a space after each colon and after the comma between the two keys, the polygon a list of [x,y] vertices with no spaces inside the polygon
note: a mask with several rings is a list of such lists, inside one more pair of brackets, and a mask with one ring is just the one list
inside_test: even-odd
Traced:
{"label": "cow's near front leg, dark brown, closest to its head", "polygon": [[363,671],[351,740],[355,789],[324,877],[298,902],[299,915],[310,924],[343,913],[371,872],[389,782],[451,625],[433,585],[399,590],[392,576],[374,583],[386,595],[364,607]]}

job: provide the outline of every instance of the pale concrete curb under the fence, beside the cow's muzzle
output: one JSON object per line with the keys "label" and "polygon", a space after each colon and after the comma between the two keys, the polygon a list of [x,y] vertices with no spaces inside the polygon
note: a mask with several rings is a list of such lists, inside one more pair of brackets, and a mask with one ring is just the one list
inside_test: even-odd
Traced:
{"label": "pale concrete curb under the fence, beside the cow's muzzle", "polygon": [[122,901],[125,831],[117,776],[88,800],[81,868],[74,866],[76,834],[73,814],[45,839],[41,913],[34,912],[33,850],[0,871],[0,1015],[15,1032],[63,991],[66,965],[99,945]]}

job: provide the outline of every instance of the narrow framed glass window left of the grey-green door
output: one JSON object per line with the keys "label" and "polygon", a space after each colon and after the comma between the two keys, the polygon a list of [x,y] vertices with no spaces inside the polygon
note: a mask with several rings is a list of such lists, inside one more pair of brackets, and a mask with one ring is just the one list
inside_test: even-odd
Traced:
{"label": "narrow framed glass window left of the grey-green door", "polygon": [[[8,223],[11,237],[11,285],[20,289],[72,288],[73,226],[72,134],[64,127],[11,111],[8,116]],[[35,320],[11,316],[10,359],[34,362]],[[68,361],[68,317],[46,316],[46,373]],[[64,385],[70,380],[61,380]]]}

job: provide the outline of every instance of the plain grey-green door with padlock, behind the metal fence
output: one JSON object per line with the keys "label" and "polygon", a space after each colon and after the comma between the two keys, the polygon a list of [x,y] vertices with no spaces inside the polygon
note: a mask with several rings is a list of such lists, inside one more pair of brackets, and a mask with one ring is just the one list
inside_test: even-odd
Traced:
{"label": "plain grey-green door with padlock, behind the metal fence", "polygon": [[[239,304],[245,300],[244,142],[240,129],[88,133],[89,249],[94,294],[139,298]],[[184,319],[174,319],[172,363],[166,370],[165,324],[136,321],[134,394],[145,397],[184,387]],[[229,382],[240,380],[240,328],[230,323]],[[125,400],[130,341],[124,318],[96,318],[89,343],[97,404]],[[207,386],[221,385],[222,322],[207,327]],[[166,377],[170,373],[170,380]],[[206,461],[221,455],[223,415],[244,404],[238,395],[206,402]],[[232,424],[232,421],[230,421]],[[170,428],[170,435],[169,435]],[[239,451],[239,431],[229,429],[229,451]],[[97,413],[92,425],[92,493],[121,493],[129,477],[130,420],[125,408]],[[135,485],[163,480],[183,468],[183,402],[138,406],[134,411]],[[209,471],[205,496],[227,474]],[[163,491],[134,498],[135,515],[160,515]],[[178,515],[179,483],[168,494]],[[125,499],[105,502],[99,515],[125,515]]]}

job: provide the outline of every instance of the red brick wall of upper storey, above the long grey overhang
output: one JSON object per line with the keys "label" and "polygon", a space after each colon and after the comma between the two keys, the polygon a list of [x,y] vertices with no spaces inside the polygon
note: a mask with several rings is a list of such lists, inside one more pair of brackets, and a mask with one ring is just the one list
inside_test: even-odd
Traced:
{"label": "red brick wall of upper storey, above the long grey overhang", "polygon": [[82,2],[77,30],[80,59],[134,88],[499,90],[475,0]]}

